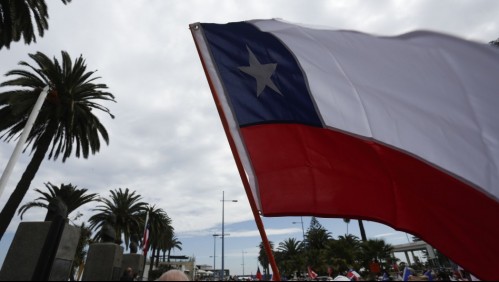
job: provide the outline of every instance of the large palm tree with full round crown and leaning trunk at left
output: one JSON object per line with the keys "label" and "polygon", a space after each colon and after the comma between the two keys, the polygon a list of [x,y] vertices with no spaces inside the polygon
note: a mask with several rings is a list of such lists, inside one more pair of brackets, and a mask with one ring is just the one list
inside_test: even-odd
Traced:
{"label": "large palm tree with full round crown and leaning trunk at left", "polygon": [[106,129],[92,110],[103,111],[114,118],[108,108],[98,103],[114,102],[114,96],[102,91],[107,88],[105,84],[93,83],[97,77],[92,77],[93,71],[86,70],[82,56],[73,63],[69,54],[62,51],[62,64],[40,52],[29,56],[37,66],[22,61],[19,64],[31,71],[9,71],[6,76],[17,77],[0,84],[0,87],[9,87],[0,93],[0,132],[5,131],[0,139],[7,142],[16,139],[41,90],[49,86],[50,92],[28,136],[27,146],[32,144],[33,157],[0,213],[0,240],[50,147],[48,159],[56,160],[62,155],[64,162],[73,152],[77,158],[88,158],[90,153],[99,152],[101,138],[109,143]]}

